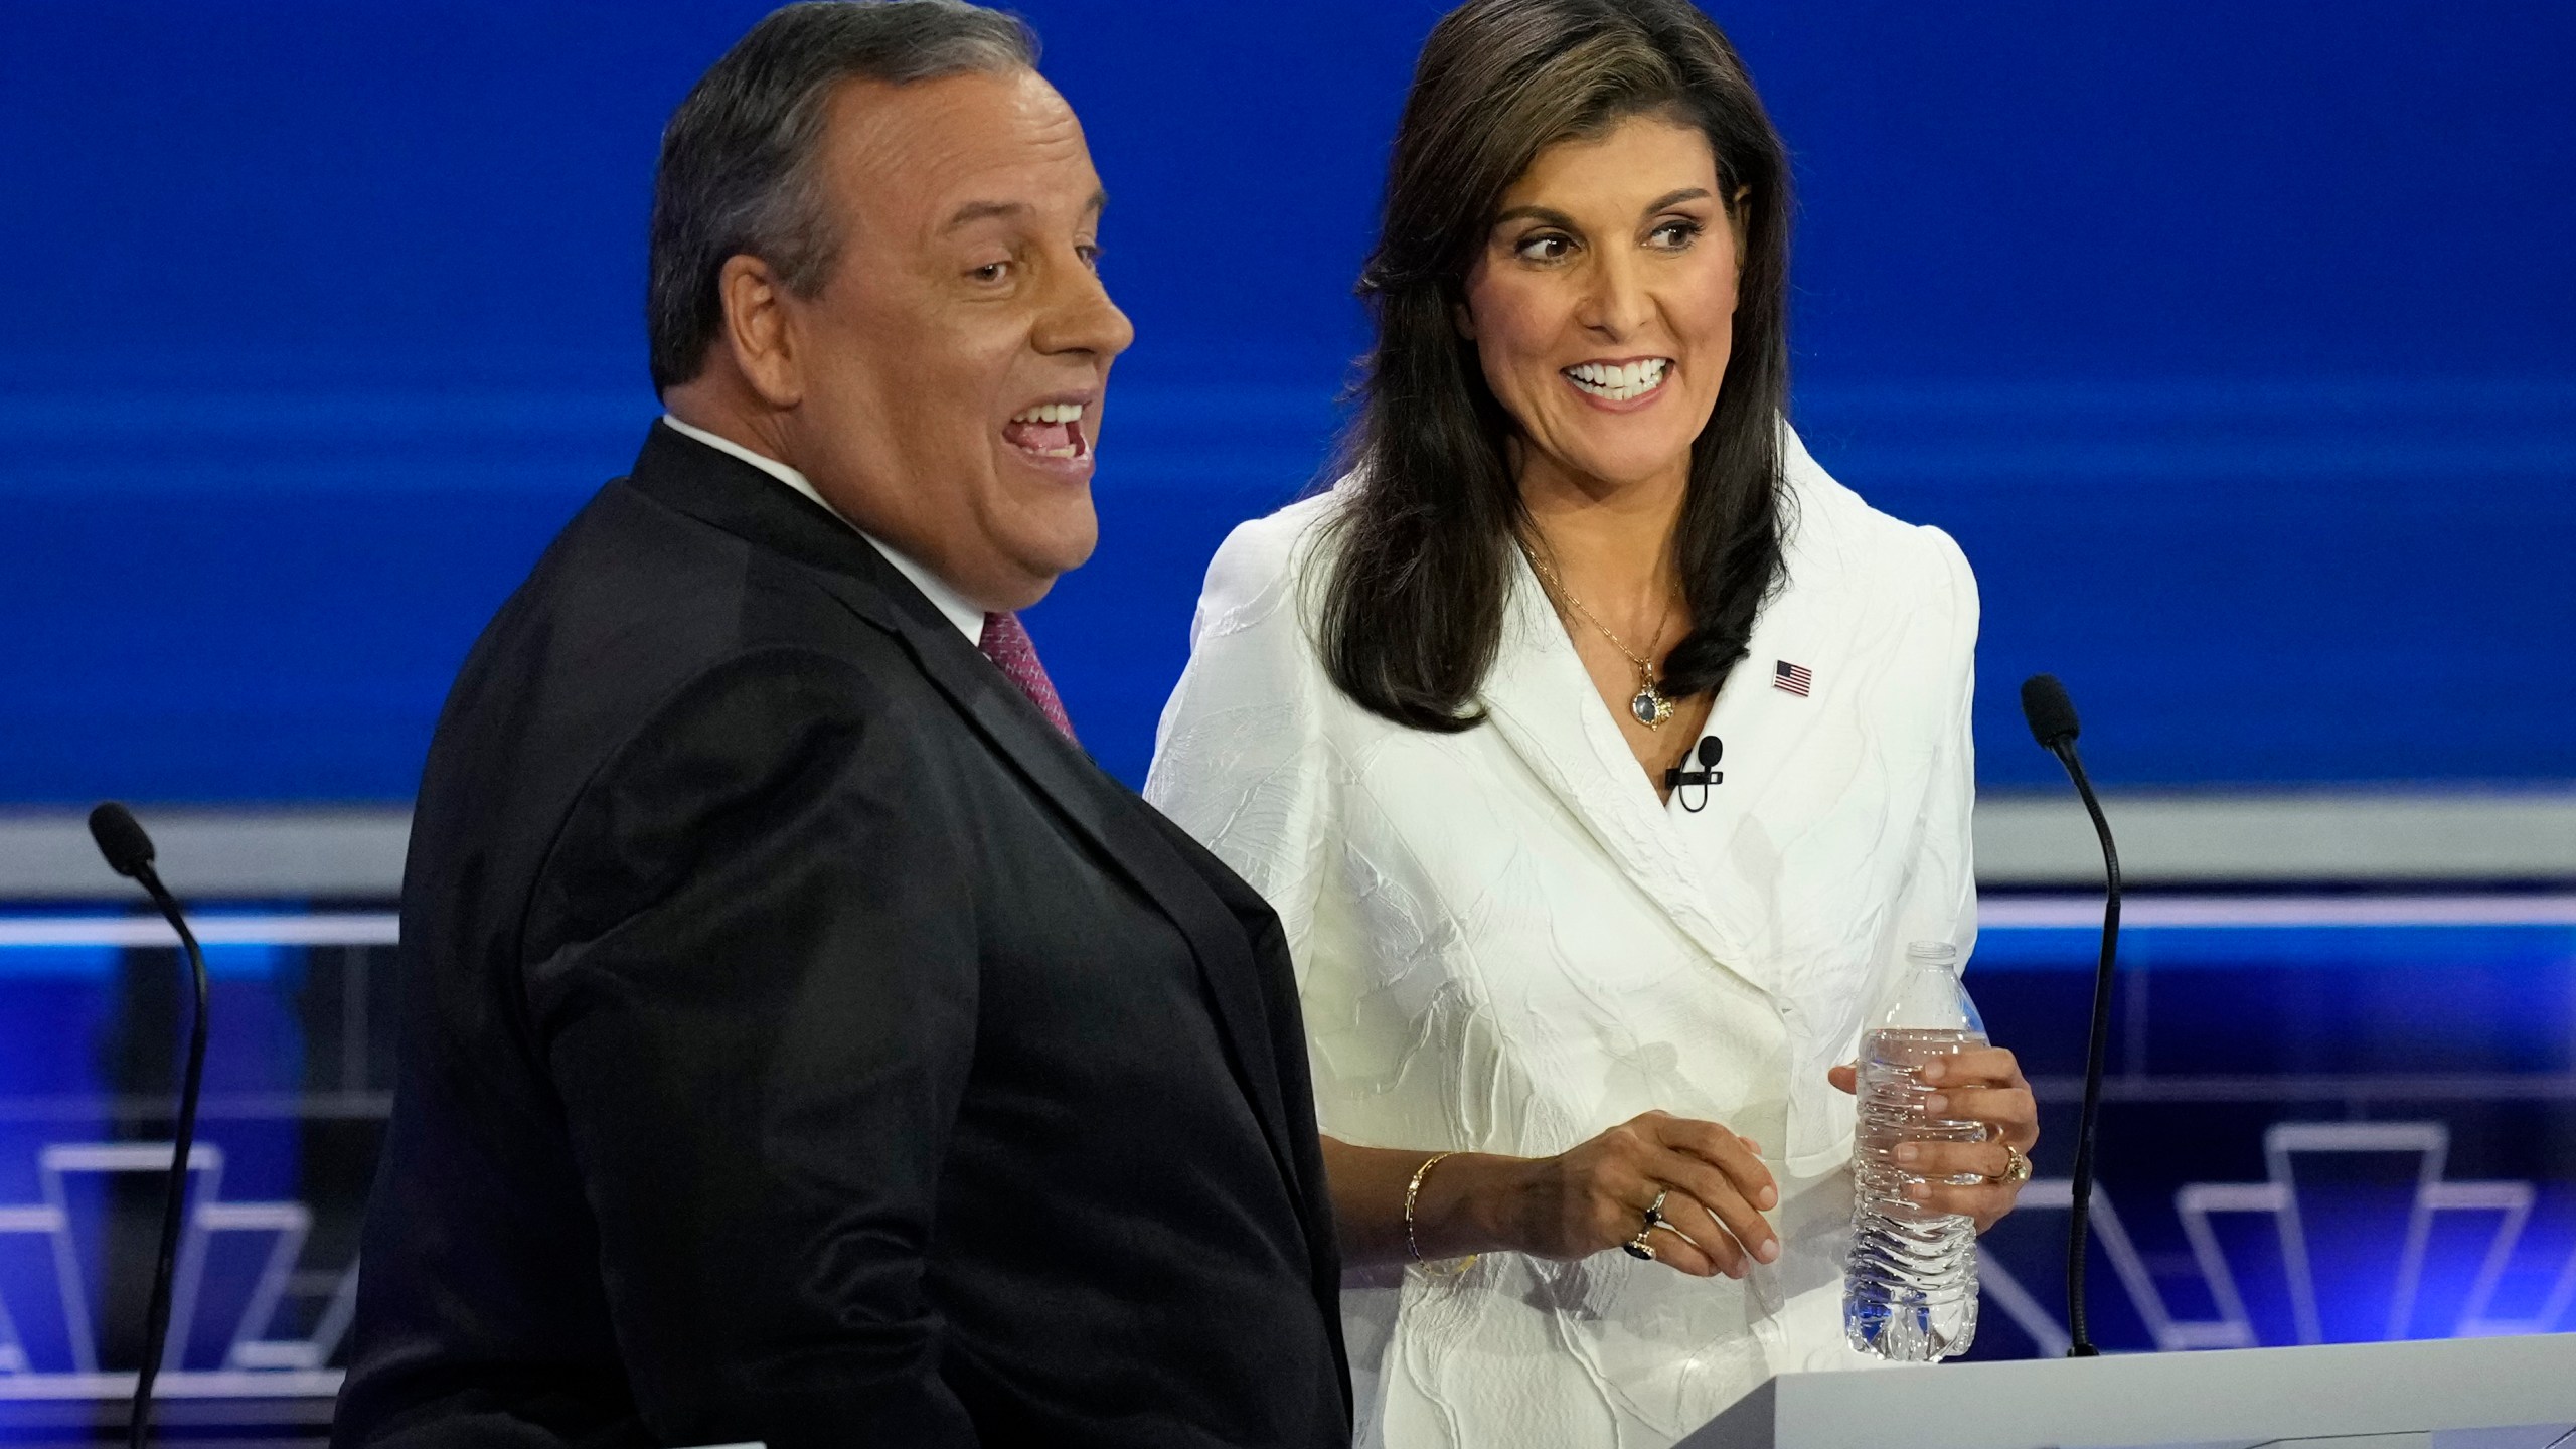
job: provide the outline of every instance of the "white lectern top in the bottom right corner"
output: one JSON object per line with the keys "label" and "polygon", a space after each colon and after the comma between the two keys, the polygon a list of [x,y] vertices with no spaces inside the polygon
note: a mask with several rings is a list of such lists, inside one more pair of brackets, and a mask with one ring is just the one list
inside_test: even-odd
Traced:
{"label": "white lectern top in the bottom right corner", "polygon": [[2576,1333],[1780,1374],[1680,1449],[2576,1446]]}

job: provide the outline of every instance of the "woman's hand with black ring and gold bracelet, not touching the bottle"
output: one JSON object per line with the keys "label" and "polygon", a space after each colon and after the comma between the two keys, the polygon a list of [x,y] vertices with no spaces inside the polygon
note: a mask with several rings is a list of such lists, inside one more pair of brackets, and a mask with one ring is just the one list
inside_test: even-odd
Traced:
{"label": "woman's hand with black ring and gold bracelet, not touching the bottle", "polygon": [[1780,1235],[1762,1220],[1780,1189],[1757,1152],[1716,1122],[1649,1111],[1571,1152],[1504,1160],[1486,1212],[1504,1248],[1587,1258],[1633,1240],[1662,1194],[1664,1227],[1646,1235],[1656,1261],[1741,1279],[1754,1261],[1780,1256]]}

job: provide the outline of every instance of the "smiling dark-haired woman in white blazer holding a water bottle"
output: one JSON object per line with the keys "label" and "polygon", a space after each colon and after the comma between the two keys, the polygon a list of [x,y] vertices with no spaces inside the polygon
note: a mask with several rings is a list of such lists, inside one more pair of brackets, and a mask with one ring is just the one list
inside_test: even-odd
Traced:
{"label": "smiling dark-haired woman in white blazer holding a water bottle", "polygon": [[[1445,18],[1352,469],[1208,570],[1146,797],[1285,923],[1363,1444],[1656,1446],[1862,1361],[1847,1062],[1976,936],[1976,583],[1780,423],[1785,180],[1685,0]],[[1904,1171],[1984,1227],[2035,1109],[1945,1070],[1989,1142]]]}

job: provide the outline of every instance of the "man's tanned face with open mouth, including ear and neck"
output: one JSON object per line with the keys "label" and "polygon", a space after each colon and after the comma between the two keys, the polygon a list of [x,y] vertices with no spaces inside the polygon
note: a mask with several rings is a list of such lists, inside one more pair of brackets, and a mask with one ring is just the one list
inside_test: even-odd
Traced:
{"label": "man's tanned face with open mouth, including ear and neck", "polygon": [[786,297],[788,456],[984,608],[1092,554],[1092,449],[1136,338],[1095,271],[1100,175],[1033,70],[845,83],[819,160],[832,276]]}

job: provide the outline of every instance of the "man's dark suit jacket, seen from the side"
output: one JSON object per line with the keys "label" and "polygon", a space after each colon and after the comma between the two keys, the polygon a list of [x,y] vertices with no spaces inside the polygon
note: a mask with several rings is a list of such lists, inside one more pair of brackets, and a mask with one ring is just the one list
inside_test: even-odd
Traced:
{"label": "man's dark suit jacket, seen from the side", "polygon": [[1350,1441],[1288,954],[654,428],[466,660],[337,1444]]}

